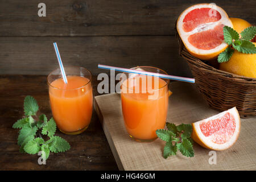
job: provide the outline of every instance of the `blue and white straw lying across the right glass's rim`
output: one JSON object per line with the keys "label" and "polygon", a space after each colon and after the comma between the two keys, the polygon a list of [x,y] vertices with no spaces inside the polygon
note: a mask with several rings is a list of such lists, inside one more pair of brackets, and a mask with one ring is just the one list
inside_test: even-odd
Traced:
{"label": "blue and white straw lying across the right glass's rim", "polygon": [[102,65],[102,64],[98,64],[98,68],[109,69],[109,70],[114,70],[114,71],[119,71],[119,72],[126,72],[126,73],[137,73],[139,75],[148,75],[148,76],[155,76],[155,77],[159,77],[159,78],[166,78],[166,79],[170,79],[170,80],[177,80],[177,81],[185,81],[185,82],[195,83],[195,78],[186,78],[186,77],[180,77],[180,76],[164,75],[164,74],[160,74],[160,73],[152,73],[152,72],[146,72],[146,71],[141,71],[141,70],[136,70],[136,69],[110,67],[110,66]]}

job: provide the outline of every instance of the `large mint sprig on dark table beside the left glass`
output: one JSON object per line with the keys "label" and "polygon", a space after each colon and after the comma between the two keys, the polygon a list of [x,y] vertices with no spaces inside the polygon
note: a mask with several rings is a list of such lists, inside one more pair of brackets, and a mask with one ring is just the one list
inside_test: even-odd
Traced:
{"label": "large mint sprig on dark table beside the left glass", "polygon": [[[36,115],[39,106],[35,98],[26,96],[24,99],[24,118],[19,119],[13,125],[19,130],[19,151],[28,154],[42,152],[42,158],[48,159],[50,152],[64,152],[69,150],[69,143],[61,137],[54,136],[56,123],[53,118],[47,119],[45,114]],[[45,140],[44,138],[47,138]]]}

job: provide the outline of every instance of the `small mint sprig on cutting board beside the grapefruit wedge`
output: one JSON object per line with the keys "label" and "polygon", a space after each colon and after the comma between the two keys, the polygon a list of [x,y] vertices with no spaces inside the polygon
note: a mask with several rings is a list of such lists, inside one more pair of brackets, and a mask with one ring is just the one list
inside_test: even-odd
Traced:
{"label": "small mint sprig on cutting board beside the grapefruit wedge", "polygon": [[163,157],[167,159],[168,156],[176,155],[177,150],[184,156],[193,157],[192,125],[182,123],[176,126],[174,123],[166,123],[166,126],[167,130],[156,130],[156,135],[166,142]]}

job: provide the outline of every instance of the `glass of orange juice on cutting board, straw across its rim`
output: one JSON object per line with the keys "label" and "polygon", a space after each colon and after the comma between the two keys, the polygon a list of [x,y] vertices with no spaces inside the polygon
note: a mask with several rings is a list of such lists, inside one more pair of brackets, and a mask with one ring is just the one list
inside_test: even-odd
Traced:
{"label": "glass of orange juice on cutting board, straw across its rim", "polygon": [[[154,67],[132,69],[138,68],[167,75]],[[121,102],[127,132],[137,141],[152,141],[157,138],[155,131],[166,125],[170,80],[134,73],[123,74],[125,79],[121,80]]]}

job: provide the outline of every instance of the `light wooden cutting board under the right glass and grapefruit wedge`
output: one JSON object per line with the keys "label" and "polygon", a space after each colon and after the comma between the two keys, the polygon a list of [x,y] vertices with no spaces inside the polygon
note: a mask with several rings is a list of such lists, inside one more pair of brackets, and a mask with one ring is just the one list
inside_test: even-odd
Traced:
{"label": "light wooden cutting board under the right glass and grapefruit wedge", "polygon": [[[172,82],[167,122],[192,123],[219,113],[210,109],[196,86]],[[209,164],[210,150],[194,144],[195,156],[163,158],[164,143],[140,143],[130,139],[123,123],[120,95],[95,97],[94,106],[120,170],[256,170],[256,118],[241,119],[241,133],[228,150],[216,151],[217,164]]]}

